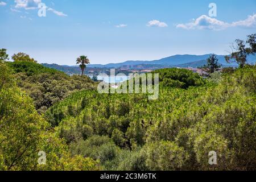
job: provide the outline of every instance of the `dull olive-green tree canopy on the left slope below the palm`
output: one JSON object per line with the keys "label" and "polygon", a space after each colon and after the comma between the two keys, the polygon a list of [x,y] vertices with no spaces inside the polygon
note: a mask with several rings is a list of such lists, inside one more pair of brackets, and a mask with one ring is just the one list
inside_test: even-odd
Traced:
{"label": "dull olive-green tree canopy on the left slope below the palm", "polygon": [[63,100],[72,92],[82,89],[94,89],[96,85],[87,76],[68,76],[55,69],[28,61],[7,62],[14,70],[17,84],[34,100],[39,113]]}

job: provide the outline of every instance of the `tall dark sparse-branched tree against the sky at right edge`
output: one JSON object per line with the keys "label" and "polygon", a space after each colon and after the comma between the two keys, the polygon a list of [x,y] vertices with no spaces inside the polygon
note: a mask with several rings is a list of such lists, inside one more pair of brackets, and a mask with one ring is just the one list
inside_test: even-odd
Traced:
{"label": "tall dark sparse-branched tree against the sky at right edge", "polygon": [[[233,51],[234,50],[234,51]],[[245,67],[247,56],[256,53],[256,34],[247,36],[246,42],[240,39],[235,40],[235,45],[232,46],[232,52],[229,56],[225,56],[228,63],[237,63],[240,68]]]}

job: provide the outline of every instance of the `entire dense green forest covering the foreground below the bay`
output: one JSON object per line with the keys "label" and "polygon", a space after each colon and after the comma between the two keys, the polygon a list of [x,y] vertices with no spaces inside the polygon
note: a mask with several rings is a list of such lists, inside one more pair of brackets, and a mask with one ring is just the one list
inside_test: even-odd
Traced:
{"label": "entire dense green forest covering the foreground below the bay", "polygon": [[255,65],[209,78],[159,69],[159,99],[148,100],[18,57],[0,51],[0,170],[256,169]]}

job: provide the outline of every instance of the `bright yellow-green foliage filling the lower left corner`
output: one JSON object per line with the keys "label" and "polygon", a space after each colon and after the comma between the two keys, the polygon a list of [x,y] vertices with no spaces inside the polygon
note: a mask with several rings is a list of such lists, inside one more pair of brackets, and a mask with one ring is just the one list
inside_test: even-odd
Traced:
{"label": "bright yellow-green foliage filling the lower left corner", "polygon": [[[15,85],[6,64],[0,63],[0,73],[0,170],[100,169],[93,159],[69,154],[67,144],[49,130],[31,98]],[[38,164],[39,151],[46,152],[46,165]]]}

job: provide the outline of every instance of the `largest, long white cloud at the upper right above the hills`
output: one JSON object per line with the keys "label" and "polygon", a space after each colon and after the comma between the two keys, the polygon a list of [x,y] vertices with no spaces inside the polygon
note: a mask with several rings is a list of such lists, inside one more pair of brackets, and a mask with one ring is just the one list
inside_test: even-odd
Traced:
{"label": "largest, long white cloud at the upper right above the hills", "polygon": [[245,20],[240,20],[233,23],[226,23],[216,18],[210,18],[207,15],[201,15],[199,18],[194,19],[191,23],[177,24],[176,27],[184,28],[187,30],[223,30],[228,27],[256,27],[256,14],[248,16],[248,18]]}

